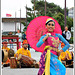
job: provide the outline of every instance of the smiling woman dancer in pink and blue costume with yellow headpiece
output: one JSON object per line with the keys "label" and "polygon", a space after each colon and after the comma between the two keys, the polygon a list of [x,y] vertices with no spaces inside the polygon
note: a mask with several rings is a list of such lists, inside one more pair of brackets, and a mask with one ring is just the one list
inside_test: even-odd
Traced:
{"label": "smiling woman dancer in pink and blue costume with yellow headpiece", "polygon": [[[66,74],[66,68],[58,60],[58,55],[60,55],[61,52],[65,52],[70,47],[70,44],[62,35],[58,34],[55,31],[58,30],[56,29],[56,26],[57,24],[55,20],[52,18],[48,18],[45,24],[47,31],[44,33],[43,36],[41,36],[40,40],[36,44],[38,49],[42,45],[46,46],[40,58],[38,75]],[[59,51],[58,47],[60,41],[62,41],[65,46]]]}

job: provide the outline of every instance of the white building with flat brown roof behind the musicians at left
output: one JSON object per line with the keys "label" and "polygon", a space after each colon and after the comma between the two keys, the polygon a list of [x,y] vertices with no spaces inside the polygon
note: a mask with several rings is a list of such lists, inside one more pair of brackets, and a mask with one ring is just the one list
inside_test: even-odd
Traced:
{"label": "white building with flat brown roof behind the musicians at left", "polygon": [[[20,29],[20,20],[21,22],[26,22],[25,18],[2,18],[2,33],[3,32],[15,32],[17,29]],[[24,25],[21,24],[21,32],[23,32]]]}

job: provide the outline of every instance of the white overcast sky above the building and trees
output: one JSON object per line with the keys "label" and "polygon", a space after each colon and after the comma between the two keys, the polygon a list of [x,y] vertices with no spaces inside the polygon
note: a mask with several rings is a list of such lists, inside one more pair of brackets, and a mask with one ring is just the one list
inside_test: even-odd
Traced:
{"label": "white overcast sky above the building and trees", "polygon": [[[46,0],[47,2],[59,5],[61,8],[64,8],[65,0]],[[21,17],[26,17],[26,9],[25,6],[32,7],[31,0],[1,0],[1,17],[6,17],[6,14],[11,14],[11,17],[20,17],[20,9],[21,9]],[[66,7],[69,9],[74,7],[74,0],[66,0]]]}

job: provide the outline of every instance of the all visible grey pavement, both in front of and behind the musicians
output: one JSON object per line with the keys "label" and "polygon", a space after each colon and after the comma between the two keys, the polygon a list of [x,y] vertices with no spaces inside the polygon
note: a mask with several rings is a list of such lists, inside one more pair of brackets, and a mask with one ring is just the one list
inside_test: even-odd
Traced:
{"label": "all visible grey pavement, both in front of and behind the musicians", "polygon": [[[9,46],[8,46],[9,47]],[[14,46],[16,52],[16,46]],[[37,62],[40,60],[41,53],[35,52],[34,49],[30,48],[31,57]],[[17,68],[11,69],[10,67],[1,68],[2,75],[37,75],[39,68]],[[66,75],[74,75],[74,68],[66,68]]]}

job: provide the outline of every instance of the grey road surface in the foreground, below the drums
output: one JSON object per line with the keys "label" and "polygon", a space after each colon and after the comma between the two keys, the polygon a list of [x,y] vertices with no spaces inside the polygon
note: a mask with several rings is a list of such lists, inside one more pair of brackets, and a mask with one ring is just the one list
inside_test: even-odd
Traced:
{"label": "grey road surface in the foreground, below the drums", "polygon": [[[37,75],[39,68],[3,68],[2,75]],[[66,68],[66,75],[74,75],[74,68]]]}

